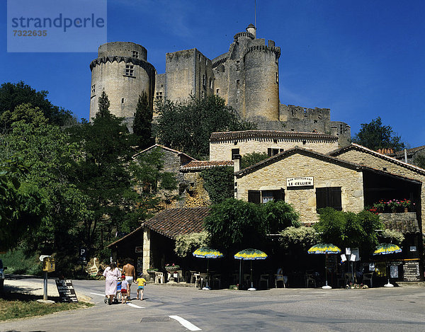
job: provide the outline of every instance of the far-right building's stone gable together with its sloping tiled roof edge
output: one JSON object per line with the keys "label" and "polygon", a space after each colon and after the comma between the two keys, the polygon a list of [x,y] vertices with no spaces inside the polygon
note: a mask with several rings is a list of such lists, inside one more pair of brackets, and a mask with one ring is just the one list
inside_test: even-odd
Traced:
{"label": "far-right building's stone gable together with its sloping tiled roof edge", "polygon": [[361,147],[357,144],[331,152],[332,156],[338,156],[341,159],[351,161],[357,164],[387,171],[407,178],[420,181],[421,185],[421,207],[418,212],[419,227],[425,232],[421,216],[425,212],[425,170],[423,168],[404,163],[385,154],[379,154],[376,151]]}

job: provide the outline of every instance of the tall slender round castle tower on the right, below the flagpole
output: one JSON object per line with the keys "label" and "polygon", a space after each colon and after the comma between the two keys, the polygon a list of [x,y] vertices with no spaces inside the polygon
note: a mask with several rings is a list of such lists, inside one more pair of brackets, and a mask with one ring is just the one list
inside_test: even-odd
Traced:
{"label": "tall slender round castle tower on the right, below the flagpole", "polygon": [[268,45],[253,40],[244,50],[247,120],[279,120],[279,57],[280,47],[275,47],[273,40],[268,40]]}

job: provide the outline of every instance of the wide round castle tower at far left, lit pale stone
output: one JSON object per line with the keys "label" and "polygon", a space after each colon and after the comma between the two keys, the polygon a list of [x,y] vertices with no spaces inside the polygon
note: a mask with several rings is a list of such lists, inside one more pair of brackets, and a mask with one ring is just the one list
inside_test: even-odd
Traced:
{"label": "wide round castle tower at far left, lit pale stone", "polygon": [[143,91],[152,107],[155,68],[147,62],[147,50],[134,42],[107,42],[99,46],[98,58],[90,64],[90,120],[98,113],[102,91],[111,103],[113,115],[132,118]]}

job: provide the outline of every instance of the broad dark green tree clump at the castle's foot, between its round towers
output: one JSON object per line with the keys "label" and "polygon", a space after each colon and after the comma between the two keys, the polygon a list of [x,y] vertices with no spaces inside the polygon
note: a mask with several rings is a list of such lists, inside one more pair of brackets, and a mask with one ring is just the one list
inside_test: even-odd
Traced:
{"label": "broad dark green tree clump at the castle's foot, between its round towers", "polygon": [[212,132],[255,129],[218,96],[200,100],[192,97],[187,103],[166,99],[157,104],[157,111],[155,132],[159,142],[197,159],[208,159]]}

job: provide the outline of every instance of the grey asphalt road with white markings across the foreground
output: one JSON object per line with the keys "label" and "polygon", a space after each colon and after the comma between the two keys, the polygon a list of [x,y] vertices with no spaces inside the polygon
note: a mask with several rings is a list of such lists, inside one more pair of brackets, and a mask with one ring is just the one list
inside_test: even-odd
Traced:
{"label": "grey asphalt road with white markings across the foreground", "polygon": [[74,280],[74,287],[96,306],[1,323],[0,331],[425,331],[425,287],[247,292],[147,285],[145,300],[133,299],[133,307],[104,304],[101,281]]}

